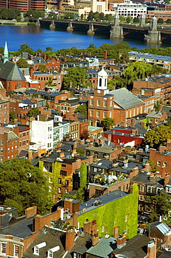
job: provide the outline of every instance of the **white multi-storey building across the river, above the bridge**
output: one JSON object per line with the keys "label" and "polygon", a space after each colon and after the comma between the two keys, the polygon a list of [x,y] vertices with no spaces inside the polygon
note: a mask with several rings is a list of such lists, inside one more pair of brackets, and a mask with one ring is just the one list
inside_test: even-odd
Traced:
{"label": "white multi-storey building across the river, above the bridge", "polygon": [[124,3],[113,3],[113,10],[116,10],[118,15],[123,15],[124,17],[131,16],[140,17],[142,13],[147,13],[147,6],[143,6],[142,3],[136,3],[129,0],[124,0]]}

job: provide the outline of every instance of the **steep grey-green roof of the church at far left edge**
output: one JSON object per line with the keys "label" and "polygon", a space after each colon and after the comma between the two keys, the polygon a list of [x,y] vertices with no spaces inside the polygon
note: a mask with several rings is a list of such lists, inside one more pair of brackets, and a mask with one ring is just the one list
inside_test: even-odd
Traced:
{"label": "steep grey-green roof of the church at far left edge", "polygon": [[25,81],[25,77],[19,70],[16,63],[6,61],[6,63],[1,66],[0,78],[8,79],[9,81]]}

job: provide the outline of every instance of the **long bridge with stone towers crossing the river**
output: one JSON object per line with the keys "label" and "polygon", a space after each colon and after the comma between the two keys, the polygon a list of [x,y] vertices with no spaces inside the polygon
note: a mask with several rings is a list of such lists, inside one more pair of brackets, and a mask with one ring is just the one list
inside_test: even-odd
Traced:
{"label": "long bridge with stone towers crossing the river", "polygon": [[[37,20],[37,25],[49,27],[50,29],[66,29],[67,31],[83,31],[89,35],[104,34],[111,38],[138,38],[146,40],[147,43],[161,43],[170,40],[171,30],[158,28],[156,21],[148,26],[138,24],[121,24],[119,20],[114,23],[88,22],[78,20]],[[145,24],[145,23],[144,23]]]}

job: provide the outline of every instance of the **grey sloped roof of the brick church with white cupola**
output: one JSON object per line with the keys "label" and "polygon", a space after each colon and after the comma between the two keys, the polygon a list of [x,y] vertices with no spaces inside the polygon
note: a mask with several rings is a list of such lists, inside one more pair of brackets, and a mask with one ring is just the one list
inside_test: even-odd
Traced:
{"label": "grey sloped roof of the brick church with white cupola", "polygon": [[109,91],[109,94],[113,95],[114,102],[122,107],[123,109],[130,109],[132,107],[138,107],[144,104],[142,100],[137,98],[131,91],[126,88],[115,89],[114,91]]}

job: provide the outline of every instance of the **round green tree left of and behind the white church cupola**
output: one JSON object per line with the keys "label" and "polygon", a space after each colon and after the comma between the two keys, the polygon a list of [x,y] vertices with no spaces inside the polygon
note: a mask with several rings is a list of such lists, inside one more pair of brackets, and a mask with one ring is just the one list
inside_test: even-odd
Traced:
{"label": "round green tree left of and behind the white church cupola", "polygon": [[78,84],[82,84],[83,86],[90,86],[87,70],[81,67],[69,68],[67,70],[67,74],[63,78],[64,88],[68,89],[71,82],[73,87],[76,87]]}

